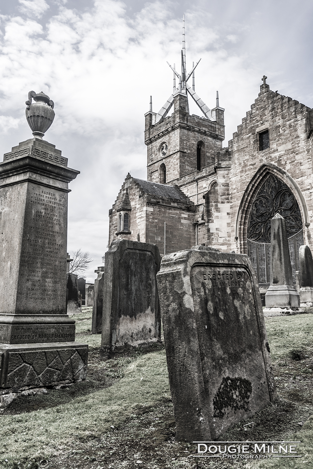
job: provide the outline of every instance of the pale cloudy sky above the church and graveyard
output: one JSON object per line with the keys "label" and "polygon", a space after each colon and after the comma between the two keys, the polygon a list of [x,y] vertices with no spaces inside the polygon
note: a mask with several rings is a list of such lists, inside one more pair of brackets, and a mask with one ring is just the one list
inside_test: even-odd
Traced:
{"label": "pale cloudy sky above the church and graveyard", "polygon": [[[70,183],[68,251],[89,251],[87,280],[107,250],[108,210],[126,174],[146,179],[144,113],[172,92],[166,61],[181,60],[207,106],[219,91],[226,140],[260,91],[313,107],[311,0],[1,0],[0,152],[31,138],[28,92],[53,99],[44,139],[78,169]],[[192,108],[193,113],[199,113]]]}

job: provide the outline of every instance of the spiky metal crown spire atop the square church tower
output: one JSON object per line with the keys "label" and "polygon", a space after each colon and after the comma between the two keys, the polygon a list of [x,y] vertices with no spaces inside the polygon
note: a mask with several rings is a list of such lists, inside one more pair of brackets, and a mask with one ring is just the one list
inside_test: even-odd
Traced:
{"label": "spiky metal crown spire atop the square church tower", "polygon": [[[201,60],[201,59],[200,59]],[[182,75],[179,75],[177,70],[175,69],[175,64],[174,67],[172,67],[168,62],[168,65],[170,68],[173,70],[174,74],[174,80],[173,80],[173,94],[168,98],[167,102],[164,104],[163,107],[161,107],[160,111],[156,115],[155,123],[158,123],[162,121],[168,114],[168,111],[174,104],[174,95],[178,92],[184,93],[187,95],[187,100],[186,100],[186,111],[189,113],[189,106],[188,106],[188,93],[191,95],[191,98],[195,101],[197,106],[201,109],[202,113],[205,115],[206,119],[209,119],[210,121],[213,121],[212,115],[211,115],[211,110],[206,106],[206,104],[198,97],[198,95],[195,93],[195,75],[194,71],[195,68],[197,67],[199,61],[196,63],[196,65],[193,65],[194,62],[192,62],[192,69],[189,73],[186,72],[186,46],[185,46],[185,15],[183,15],[183,47],[182,47]],[[177,76],[179,80],[179,88],[176,88],[176,80],[175,77]],[[192,76],[192,88],[191,86],[187,83],[189,78]],[[217,97],[218,98],[218,97]]]}

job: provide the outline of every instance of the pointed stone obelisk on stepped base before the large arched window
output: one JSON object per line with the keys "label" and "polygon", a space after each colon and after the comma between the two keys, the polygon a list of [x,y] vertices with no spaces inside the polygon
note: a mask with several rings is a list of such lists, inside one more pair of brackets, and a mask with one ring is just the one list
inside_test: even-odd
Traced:
{"label": "pointed stone obelisk on stepped base before the large arched window", "polygon": [[265,315],[286,315],[302,311],[297,288],[292,282],[286,223],[279,213],[271,220],[271,273],[265,306]]}

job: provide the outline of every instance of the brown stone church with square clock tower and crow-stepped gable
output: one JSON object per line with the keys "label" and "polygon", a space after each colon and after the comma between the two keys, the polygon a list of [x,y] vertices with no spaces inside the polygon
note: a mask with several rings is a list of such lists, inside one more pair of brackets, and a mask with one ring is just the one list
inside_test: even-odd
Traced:
{"label": "brown stone church with square clock tower and crow-stepped gable", "polygon": [[[173,93],[159,113],[151,100],[145,114],[147,181],[126,176],[109,211],[109,245],[124,238],[157,244],[161,255],[196,244],[248,254],[266,288],[271,219],[280,213],[295,277],[299,246],[313,250],[313,109],[271,91],[263,76],[223,147],[224,109],[218,93],[212,110],[195,93],[197,65],[186,73],[183,27],[181,72],[170,65]],[[189,113],[188,98],[201,117]]]}

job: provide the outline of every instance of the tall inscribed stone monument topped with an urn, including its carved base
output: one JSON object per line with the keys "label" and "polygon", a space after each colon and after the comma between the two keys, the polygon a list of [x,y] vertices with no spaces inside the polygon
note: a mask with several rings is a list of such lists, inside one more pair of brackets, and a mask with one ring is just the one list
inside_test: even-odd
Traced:
{"label": "tall inscribed stone monument topped with an urn, including its carved base", "polygon": [[0,163],[0,391],[84,379],[87,368],[66,314],[68,186],[79,171],[42,139],[53,101],[31,91],[26,105],[34,137]]}

